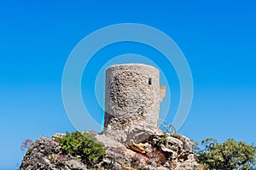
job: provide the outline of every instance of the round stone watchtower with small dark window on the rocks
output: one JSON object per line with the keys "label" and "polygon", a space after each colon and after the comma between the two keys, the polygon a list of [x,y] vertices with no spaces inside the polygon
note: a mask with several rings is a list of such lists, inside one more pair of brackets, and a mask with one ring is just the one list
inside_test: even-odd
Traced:
{"label": "round stone watchtower with small dark window on the rocks", "polygon": [[105,90],[103,133],[122,136],[132,127],[158,128],[166,88],[160,87],[159,71],[154,66],[113,65],[106,71]]}

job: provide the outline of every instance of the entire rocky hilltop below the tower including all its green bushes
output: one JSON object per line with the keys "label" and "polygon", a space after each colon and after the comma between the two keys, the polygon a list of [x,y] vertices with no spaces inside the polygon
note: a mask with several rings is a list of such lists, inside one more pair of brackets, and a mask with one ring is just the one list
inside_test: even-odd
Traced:
{"label": "entire rocky hilltop below the tower including all its green bushes", "polygon": [[256,169],[256,147],[234,139],[224,143],[205,139],[198,147],[198,144],[177,133],[136,130],[128,137],[127,144],[104,134],[89,132],[56,133],[52,138],[41,138],[33,143],[27,139],[21,145],[21,149],[29,149],[20,170]]}

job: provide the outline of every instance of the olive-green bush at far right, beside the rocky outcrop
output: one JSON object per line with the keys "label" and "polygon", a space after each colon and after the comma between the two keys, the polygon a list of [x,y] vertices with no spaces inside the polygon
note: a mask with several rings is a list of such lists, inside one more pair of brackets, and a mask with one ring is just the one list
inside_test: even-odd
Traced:
{"label": "olive-green bush at far right, beside the rocky outcrop", "polygon": [[207,169],[239,170],[256,169],[256,147],[242,141],[228,139],[218,143],[216,139],[201,141],[202,149],[196,148],[197,161]]}

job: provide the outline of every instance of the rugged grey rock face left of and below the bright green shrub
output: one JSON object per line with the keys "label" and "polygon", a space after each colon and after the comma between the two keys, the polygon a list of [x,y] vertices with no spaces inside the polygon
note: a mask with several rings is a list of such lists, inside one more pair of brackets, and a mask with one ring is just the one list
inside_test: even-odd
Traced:
{"label": "rugged grey rock face left of and below the bright green shrub", "polygon": [[55,142],[54,138],[41,138],[27,150],[20,165],[20,170],[36,169],[83,170],[87,169],[87,166],[79,157],[62,153],[61,145]]}

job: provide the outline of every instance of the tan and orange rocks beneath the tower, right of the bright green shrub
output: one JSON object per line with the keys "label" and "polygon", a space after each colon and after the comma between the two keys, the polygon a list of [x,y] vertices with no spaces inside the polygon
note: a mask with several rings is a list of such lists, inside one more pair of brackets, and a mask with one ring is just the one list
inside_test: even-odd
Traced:
{"label": "tan and orange rocks beneath the tower, right of the bright green shrub", "polygon": [[109,169],[200,169],[192,143],[183,135],[134,128],[128,133],[126,144],[116,143],[105,135],[97,138],[103,143],[108,141],[103,161]]}

